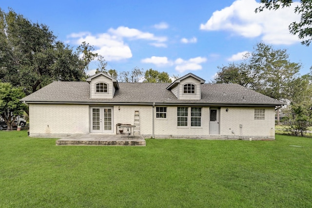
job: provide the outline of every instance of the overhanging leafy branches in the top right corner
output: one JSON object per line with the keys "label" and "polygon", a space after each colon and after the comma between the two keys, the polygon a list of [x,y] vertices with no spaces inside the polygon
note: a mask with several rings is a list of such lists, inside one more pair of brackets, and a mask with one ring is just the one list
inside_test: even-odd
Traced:
{"label": "overhanging leafy branches in the top right corner", "polygon": [[[260,0],[260,3],[264,5],[256,8],[256,13],[264,9],[277,10],[285,6],[289,7],[292,0]],[[304,39],[301,44],[309,46],[312,41],[312,1],[300,0],[300,6],[295,7],[294,13],[301,14],[300,21],[292,22],[288,29],[292,35],[298,35],[298,38]]]}

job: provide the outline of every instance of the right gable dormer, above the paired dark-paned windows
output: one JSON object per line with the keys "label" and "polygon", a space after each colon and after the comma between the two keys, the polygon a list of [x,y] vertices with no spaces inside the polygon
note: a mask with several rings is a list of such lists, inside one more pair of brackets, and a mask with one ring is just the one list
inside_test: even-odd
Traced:
{"label": "right gable dormer, above the paired dark-paned windows", "polygon": [[200,100],[200,85],[205,80],[189,73],[177,79],[167,87],[180,100]]}

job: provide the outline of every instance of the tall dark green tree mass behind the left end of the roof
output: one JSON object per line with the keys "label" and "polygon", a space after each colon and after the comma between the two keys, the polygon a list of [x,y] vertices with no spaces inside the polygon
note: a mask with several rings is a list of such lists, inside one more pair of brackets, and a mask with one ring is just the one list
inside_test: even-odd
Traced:
{"label": "tall dark green tree mass behind the left end of the roof", "polygon": [[0,9],[0,78],[29,95],[52,81],[85,79],[97,54],[83,42],[76,51],[60,41],[48,26],[32,23],[12,9]]}

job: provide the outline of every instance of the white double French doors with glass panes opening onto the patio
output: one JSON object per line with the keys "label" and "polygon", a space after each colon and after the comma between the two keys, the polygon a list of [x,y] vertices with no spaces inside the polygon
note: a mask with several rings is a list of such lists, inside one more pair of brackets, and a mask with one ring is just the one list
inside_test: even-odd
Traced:
{"label": "white double French doors with glass panes opening onto the patio", "polygon": [[98,133],[114,132],[112,107],[90,108],[90,132],[98,132]]}

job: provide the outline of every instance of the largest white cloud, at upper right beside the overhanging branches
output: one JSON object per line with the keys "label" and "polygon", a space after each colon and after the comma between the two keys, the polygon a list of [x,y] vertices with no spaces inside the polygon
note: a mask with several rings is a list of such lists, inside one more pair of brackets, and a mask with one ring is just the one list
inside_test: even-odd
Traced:
{"label": "largest white cloud, at upper right beside the overhanging branches", "polygon": [[215,11],[205,24],[200,25],[200,29],[225,30],[246,38],[261,36],[269,44],[293,44],[300,40],[289,33],[288,25],[300,20],[300,16],[293,13],[298,4],[293,2],[290,7],[255,13],[260,3],[255,0],[235,0],[231,6]]}

